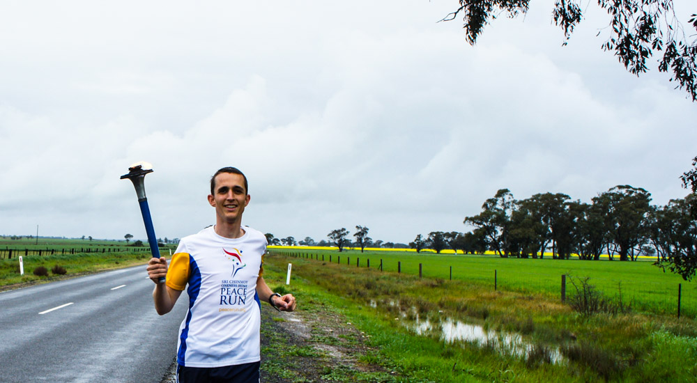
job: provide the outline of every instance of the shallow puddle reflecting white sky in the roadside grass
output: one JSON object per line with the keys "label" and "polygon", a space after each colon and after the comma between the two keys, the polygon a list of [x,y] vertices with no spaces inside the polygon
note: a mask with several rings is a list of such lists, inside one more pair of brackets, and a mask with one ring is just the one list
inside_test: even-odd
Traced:
{"label": "shallow puddle reflecting white sky in the roadside grass", "polygon": [[[470,325],[450,319],[443,320],[439,324],[432,324],[429,320],[420,320],[417,316],[413,325],[407,327],[413,329],[416,334],[439,335],[444,341],[450,343],[465,341],[475,343],[481,347],[493,347],[494,350],[502,354],[515,355],[521,358],[528,357],[528,354],[535,350],[535,346],[526,342],[520,334],[485,330],[484,327],[479,325]],[[566,363],[566,359],[558,348],[548,348],[547,351],[551,363]]]}

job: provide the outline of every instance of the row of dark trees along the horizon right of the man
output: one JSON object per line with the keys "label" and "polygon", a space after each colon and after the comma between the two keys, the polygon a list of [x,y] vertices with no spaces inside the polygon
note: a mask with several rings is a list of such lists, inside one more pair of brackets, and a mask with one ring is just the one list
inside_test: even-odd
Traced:
{"label": "row of dark trees along the horizon right of the man", "polygon": [[569,259],[574,254],[581,260],[599,260],[607,254],[609,260],[621,261],[654,256],[656,265],[689,281],[697,270],[697,157],[692,166],[680,177],[691,193],[664,206],[652,205],[649,192],[630,185],[612,187],[590,203],[549,192],[519,201],[509,189],[500,189],[484,201],[482,212],[465,217],[464,224],[473,227],[467,233],[433,231],[427,237],[417,235],[406,245],[373,241],[367,227],[355,226],[354,241],[346,228],[330,231],[328,241],[305,237],[296,242],[293,237],[279,239],[271,233],[266,239],[275,245],[334,246],[339,251],[411,247],[436,253],[444,249],[470,254],[493,251],[502,258],[544,258],[551,253],[553,259]]}

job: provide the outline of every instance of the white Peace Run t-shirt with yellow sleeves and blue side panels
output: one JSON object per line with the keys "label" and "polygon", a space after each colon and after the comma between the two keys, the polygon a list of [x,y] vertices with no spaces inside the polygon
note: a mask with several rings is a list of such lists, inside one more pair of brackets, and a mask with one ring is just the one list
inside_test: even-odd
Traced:
{"label": "white Peace Run t-shirt with yellow sleeves and blue side panels", "polygon": [[179,327],[177,363],[222,367],[260,360],[261,304],[256,279],[262,273],[266,237],[253,228],[236,239],[213,226],[184,237],[167,270],[167,286],[189,295]]}

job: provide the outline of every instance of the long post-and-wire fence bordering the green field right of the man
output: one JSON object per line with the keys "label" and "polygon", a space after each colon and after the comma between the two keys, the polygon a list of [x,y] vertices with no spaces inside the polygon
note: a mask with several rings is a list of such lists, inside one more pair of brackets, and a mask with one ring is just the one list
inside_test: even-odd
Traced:
{"label": "long post-and-wire fence bordering the green field right of the man", "polygon": [[[413,259],[385,261],[378,256],[361,256],[353,254],[302,253],[270,249],[270,253],[337,263],[346,267],[363,267],[378,269],[398,274],[413,274],[419,278],[459,279],[491,286],[493,290],[509,290],[530,293],[542,293],[558,297],[562,302],[576,294],[580,277],[568,274],[551,274],[549,272],[511,272],[500,269],[473,269],[459,267],[457,258],[452,265],[429,265]],[[588,283],[611,299],[620,299],[635,311],[648,311],[665,315],[687,315],[697,317],[697,288],[692,284],[653,283],[631,279],[592,278]]]}

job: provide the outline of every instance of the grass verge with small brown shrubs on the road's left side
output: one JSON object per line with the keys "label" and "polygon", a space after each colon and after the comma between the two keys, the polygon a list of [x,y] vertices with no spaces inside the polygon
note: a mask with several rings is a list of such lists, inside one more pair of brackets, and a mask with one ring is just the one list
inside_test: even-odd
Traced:
{"label": "grass verge with small brown shrubs on the road's left side", "polygon": [[[0,287],[17,283],[53,281],[76,274],[144,265],[150,258],[150,253],[77,253],[26,256],[22,258],[24,275],[20,275],[19,259],[0,259]],[[45,267],[53,271],[49,272],[48,276],[36,276],[33,271],[38,267]]]}

